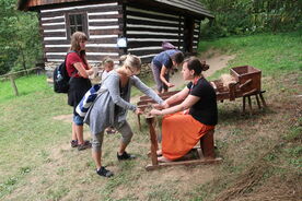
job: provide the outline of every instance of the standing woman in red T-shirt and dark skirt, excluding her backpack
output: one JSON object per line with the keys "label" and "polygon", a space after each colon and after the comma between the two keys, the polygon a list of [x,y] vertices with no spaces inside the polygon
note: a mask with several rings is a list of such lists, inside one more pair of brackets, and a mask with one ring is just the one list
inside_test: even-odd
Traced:
{"label": "standing woman in red T-shirt and dark skirt, excluding her backpack", "polygon": [[78,104],[91,87],[89,75],[93,70],[85,58],[85,44],[88,37],[82,32],[76,32],[71,36],[69,52],[66,57],[66,70],[69,80],[68,105],[73,107],[72,140],[71,146],[79,151],[91,147],[89,141],[83,140],[83,118],[76,111]]}

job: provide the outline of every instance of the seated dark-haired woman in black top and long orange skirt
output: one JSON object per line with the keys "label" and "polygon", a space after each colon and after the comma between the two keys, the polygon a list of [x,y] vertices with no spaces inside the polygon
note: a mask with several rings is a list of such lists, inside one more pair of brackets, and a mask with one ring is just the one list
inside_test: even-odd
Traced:
{"label": "seated dark-haired woman in black top and long orange skirt", "polygon": [[205,68],[196,57],[186,59],[182,73],[183,79],[190,82],[165,100],[166,105],[182,103],[162,110],[151,110],[152,115],[165,115],[162,121],[162,150],[158,152],[162,154],[160,162],[184,156],[217,125],[216,92],[201,74],[202,70],[207,70]]}

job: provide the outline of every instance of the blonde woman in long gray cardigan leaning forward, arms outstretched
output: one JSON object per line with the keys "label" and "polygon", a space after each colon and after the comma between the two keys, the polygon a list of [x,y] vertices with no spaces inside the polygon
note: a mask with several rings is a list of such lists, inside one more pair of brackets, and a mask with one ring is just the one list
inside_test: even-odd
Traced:
{"label": "blonde woman in long gray cardigan leaning forward, arms outstretched", "polygon": [[143,84],[136,74],[140,72],[141,61],[132,55],[123,56],[121,68],[113,70],[102,83],[103,93],[97,97],[94,105],[86,114],[84,121],[90,126],[92,134],[92,157],[96,165],[96,173],[100,176],[111,177],[113,173],[107,170],[101,163],[102,142],[104,130],[107,127],[115,127],[121,133],[121,142],[117,152],[117,158],[131,159],[133,155],[128,154],[125,150],[133,135],[126,116],[130,109],[136,114],[141,110],[129,103],[131,86],[136,86],[142,93],[153,98],[159,104],[163,99],[150,87]]}

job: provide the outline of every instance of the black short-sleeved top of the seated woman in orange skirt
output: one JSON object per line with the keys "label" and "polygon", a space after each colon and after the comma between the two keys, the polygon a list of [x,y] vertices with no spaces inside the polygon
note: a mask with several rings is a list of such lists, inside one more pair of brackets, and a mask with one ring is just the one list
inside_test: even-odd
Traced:
{"label": "black short-sleeved top of the seated woman in orange skirt", "polygon": [[211,84],[201,78],[196,84],[188,83],[189,94],[200,97],[200,99],[190,107],[189,115],[204,125],[216,126],[218,121],[216,92]]}

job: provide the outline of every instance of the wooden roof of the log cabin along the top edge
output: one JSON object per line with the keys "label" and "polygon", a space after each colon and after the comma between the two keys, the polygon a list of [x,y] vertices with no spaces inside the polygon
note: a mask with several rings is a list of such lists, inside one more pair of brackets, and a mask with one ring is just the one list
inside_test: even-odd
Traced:
{"label": "wooden roof of the log cabin along the top edge", "polygon": [[[19,0],[18,9],[21,11],[38,10],[37,7],[70,3],[70,2],[100,2],[91,0]],[[136,2],[135,0],[128,0],[129,2]],[[159,5],[172,7],[178,11],[190,13],[197,16],[214,17],[209,10],[207,10],[198,0],[137,0],[143,3],[158,3]],[[126,1],[127,2],[127,1]]]}

